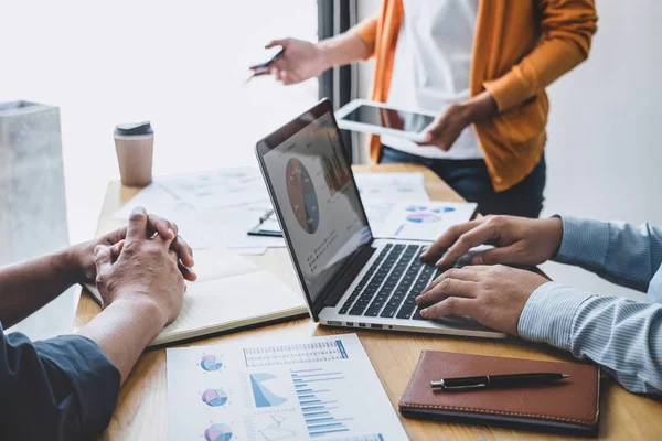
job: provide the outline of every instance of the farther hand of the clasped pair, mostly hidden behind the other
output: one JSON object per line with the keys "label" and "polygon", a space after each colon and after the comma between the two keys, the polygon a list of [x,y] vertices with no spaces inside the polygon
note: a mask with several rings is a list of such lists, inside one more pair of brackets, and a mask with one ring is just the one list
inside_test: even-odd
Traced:
{"label": "farther hand of the clasped pair, mostly hidden behind the other", "polygon": [[[180,262],[179,268],[182,272],[184,279],[189,281],[195,281],[197,276],[191,269],[194,265],[193,261],[193,250],[186,244],[181,236],[179,236],[179,228],[175,223],[170,222],[163,217],[160,217],[156,214],[148,215],[147,228],[149,234],[159,234],[166,239],[172,239],[172,244],[170,245],[170,249],[177,252]],[[125,238],[127,237],[127,227],[118,228],[114,232],[108,233],[105,236],[99,238],[76,245],[72,247],[72,255],[79,271],[79,281],[85,283],[95,283],[96,279],[96,256],[94,254],[94,249],[98,245],[113,247],[119,252],[121,250],[121,246]]]}

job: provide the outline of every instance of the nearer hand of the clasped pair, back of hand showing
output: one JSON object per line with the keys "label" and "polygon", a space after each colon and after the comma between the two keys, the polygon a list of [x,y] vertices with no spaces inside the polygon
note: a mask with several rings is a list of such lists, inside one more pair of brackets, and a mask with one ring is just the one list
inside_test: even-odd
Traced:
{"label": "nearer hand of the clasped pair, back of hand showing", "polygon": [[162,326],[177,319],[183,303],[184,278],[179,257],[170,249],[173,237],[153,235],[145,208],[134,209],[126,240],[95,248],[96,284],[104,308],[118,300],[157,306]]}

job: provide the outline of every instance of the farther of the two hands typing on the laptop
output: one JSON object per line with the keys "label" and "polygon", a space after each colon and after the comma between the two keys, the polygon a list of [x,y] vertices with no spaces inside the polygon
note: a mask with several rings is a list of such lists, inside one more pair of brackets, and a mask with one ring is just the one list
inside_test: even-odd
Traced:
{"label": "farther of the two hands typing on the laptop", "polygon": [[471,248],[495,248],[473,256],[473,265],[540,265],[557,252],[563,237],[560,218],[530,219],[515,216],[487,216],[451,227],[420,256],[430,260],[441,251],[437,267],[453,265]]}

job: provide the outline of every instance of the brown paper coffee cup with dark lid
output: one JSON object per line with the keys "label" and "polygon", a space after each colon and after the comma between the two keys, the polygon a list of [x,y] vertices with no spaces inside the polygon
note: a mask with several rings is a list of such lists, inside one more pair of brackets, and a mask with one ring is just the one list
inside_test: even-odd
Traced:
{"label": "brown paper coffee cup with dark lid", "polygon": [[152,181],[154,131],[149,121],[115,128],[115,150],[122,185],[146,186]]}

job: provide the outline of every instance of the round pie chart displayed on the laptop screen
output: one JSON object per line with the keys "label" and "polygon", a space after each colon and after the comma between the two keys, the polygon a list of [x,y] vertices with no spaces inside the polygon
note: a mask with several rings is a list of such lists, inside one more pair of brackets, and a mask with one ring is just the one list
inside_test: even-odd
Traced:
{"label": "round pie chart displayed on the laptop screen", "polygon": [[297,222],[308,234],[320,225],[320,208],[312,180],[306,166],[296,158],[287,162],[285,170],[287,195]]}

